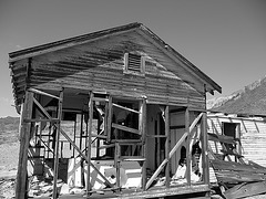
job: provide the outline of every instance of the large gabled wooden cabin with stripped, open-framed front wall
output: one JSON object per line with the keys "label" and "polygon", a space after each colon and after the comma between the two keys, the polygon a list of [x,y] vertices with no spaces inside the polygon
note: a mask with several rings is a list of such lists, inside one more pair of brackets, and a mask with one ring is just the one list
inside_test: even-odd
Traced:
{"label": "large gabled wooden cabin with stripped, open-framed front wall", "polygon": [[59,179],[88,197],[209,192],[206,93],[222,88],[150,29],[131,23],[9,56],[18,199],[32,176],[52,177],[53,198]]}

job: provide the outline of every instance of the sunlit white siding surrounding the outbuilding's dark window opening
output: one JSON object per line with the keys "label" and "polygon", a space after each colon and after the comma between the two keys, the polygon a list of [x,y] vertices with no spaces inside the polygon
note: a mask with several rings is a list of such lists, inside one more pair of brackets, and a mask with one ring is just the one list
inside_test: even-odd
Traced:
{"label": "sunlit white siding surrounding the outbuilding's dark window opening", "polygon": [[[208,133],[222,134],[223,122],[241,125],[242,155],[266,167],[266,122],[260,118],[208,117]],[[212,147],[215,149],[214,145]]]}

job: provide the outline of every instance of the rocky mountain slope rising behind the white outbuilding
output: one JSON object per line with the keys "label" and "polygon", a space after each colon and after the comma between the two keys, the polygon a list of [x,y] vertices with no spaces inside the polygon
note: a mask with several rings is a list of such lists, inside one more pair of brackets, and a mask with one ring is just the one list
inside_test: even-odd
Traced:
{"label": "rocky mountain slope rising behind the white outbuilding", "polygon": [[266,116],[266,76],[228,96],[207,101],[213,112]]}

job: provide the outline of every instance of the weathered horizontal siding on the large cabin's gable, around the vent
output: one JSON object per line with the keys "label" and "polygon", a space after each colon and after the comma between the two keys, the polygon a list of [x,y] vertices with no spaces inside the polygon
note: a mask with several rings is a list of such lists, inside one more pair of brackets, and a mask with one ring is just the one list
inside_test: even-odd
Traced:
{"label": "weathered horizontal siding on the large cabin's gable, around the vent", "polygon": [[[157,66],[147,66],[145,75],[125,74],[125,52],[137,52],[156,62]],[[23,95],[25,85],[48,90],[63,86],[117,95],[145,95],[149,103],[205,108],[204,86],[192,87],[190,80],[195,77],[137,32],[41,54],[34,56],[30,65],[14,62],[11,70],[19,95]],[[186,81],[176,76],[177,73],[187,76]]]}

